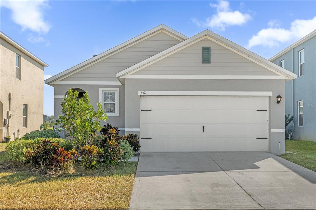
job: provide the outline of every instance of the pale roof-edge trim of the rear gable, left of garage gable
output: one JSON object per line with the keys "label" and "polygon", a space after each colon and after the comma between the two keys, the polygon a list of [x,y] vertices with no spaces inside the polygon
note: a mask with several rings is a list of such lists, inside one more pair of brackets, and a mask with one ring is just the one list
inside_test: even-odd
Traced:
{"label": "pale roof-edge trim of the rear gable, left of garage gable", "polygon": [[69,68],[69,69],[67,69],[67,70],[65,70],[65,71],[63,71],[63,72],[61,72],[59,74],[56,74],[55,76],[52,76],[49,79],[46,79],[45,83],[46,84],[50,84],[51,82],[53,82],[53,81],[55,81],[57,79],[60,79],[60,78],[66,76],[66,75],[68,75],[68,74],[70,74],[70,73],[72,73],[74,71],[77,71],[78,69],[81,69],[81,68],[83,68],[83,67],[85,67],[87,65],[90,65],[91,63],[96,62],[96,61],[98,61],[98,60],[100,60],[100,59],[102,59],[102,58],[104,58],[106,56],[113,55],[116,52],[118,52],[119,50],[129,46],[130,44],[138,42],[139,40],[141,40],[143,38],[146,38],[147,36],[157,32],[157,31],[161,31],[161,30],[173,35],[175,38],[179,39],[180,41],[183,41],[183,40],[188,38],[187,36],[185,36],[185,35],[177,32],[177,31],[173,30],[172,28],[169,28],[168,26],[165,26],[165,25],[161,24],[159,26],[156,26],[155,28],[150,29],[149,31],[146,31],[146,32],[138,35],[137,37],[131,38],[130,40],[128,40],[128,41],[126,41],[126,42],[124,42],[122,44],[119,44],[119,45],[117,45],[117,46],[115,46],[115,47],[113,47],[113,48],[111,48],[109,50],[106,50],[103,53],[100,53],[99,55],[96,55],[96,56],[94,56],[94,57],[92,57],[92,58],[90,58],[90,59],[88,59],[86,61],[83,61],[82,63],[80,63],[80,64],[78,64],[78,65],[76,65],[74,67],[71,67],[71,68]]}

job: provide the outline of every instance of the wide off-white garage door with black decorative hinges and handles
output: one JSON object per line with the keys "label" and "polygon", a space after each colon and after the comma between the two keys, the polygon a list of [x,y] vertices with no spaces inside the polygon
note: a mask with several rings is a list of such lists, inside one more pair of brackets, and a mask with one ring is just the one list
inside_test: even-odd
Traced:
{"label": "wide off-white garage door with black decorative hinges and handles", "polygon": [[143,152],[267,152],[266,96],[141,96]]}

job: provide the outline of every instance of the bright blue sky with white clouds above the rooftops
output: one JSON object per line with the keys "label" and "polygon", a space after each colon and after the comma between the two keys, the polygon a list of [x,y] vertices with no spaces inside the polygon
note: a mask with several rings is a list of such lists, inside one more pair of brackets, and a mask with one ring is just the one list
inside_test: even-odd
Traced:
{"label": "bright blue sky with white clouds above the rooftops", "polygon": [[[49,64],[45,79],[161,23],[209,29],[270,58],[316,28],[316,1],[0,1],[0,29]],[[44,114],[54,113],[44,85]]]}

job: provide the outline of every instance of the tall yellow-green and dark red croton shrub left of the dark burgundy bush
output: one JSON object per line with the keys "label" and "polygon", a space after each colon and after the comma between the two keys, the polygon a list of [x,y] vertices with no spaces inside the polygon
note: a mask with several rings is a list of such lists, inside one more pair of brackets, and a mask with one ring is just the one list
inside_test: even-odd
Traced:
{"label": "tall yellow-green and dark red croton shrub left of the dark burgundy bush", "polygon": [[122,151],[119,148],[121,137],[115,128],[107,131],[107,135],[96,136],[94,144],[104,150],[101,160],[113,166],[120,162]]}

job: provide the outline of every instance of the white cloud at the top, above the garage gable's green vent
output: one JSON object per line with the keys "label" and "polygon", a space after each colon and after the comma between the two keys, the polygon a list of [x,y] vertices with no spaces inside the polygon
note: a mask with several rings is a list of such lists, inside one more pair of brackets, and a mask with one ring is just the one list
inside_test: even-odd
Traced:
{"label": "white cloud at the top, above the garage gable's green vent", "polygon": [[240,26],[251,19],[249,14],[241,13],[238,10],[232,11],[228,1],[217,1],[217,4],[210,3],[210,6],[216,8],[217,13],[206,19],[203,24],[205,27],[225,31],[227,26]]}

